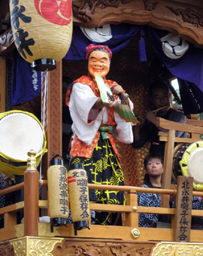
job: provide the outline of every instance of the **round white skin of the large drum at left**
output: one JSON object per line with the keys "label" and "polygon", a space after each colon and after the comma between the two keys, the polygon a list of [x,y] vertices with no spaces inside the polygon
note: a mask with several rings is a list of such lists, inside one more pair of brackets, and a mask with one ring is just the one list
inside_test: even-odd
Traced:
{"label": "round white skin of the large drum at left", "polygon": [[0,142],[0,154],[2,152],[8,160],[26,161],[28,151],[33,149],[38,153],[42,150],[44,132],[32,114],[9,111],[0,119]]}

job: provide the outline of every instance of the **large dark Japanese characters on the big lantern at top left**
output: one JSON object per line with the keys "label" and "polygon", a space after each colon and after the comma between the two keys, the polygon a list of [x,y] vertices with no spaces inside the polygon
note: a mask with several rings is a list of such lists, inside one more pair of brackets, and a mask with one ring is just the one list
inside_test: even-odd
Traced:
{"label": "large dark Japanese characters on the big lantern at top left", "polygon": [[26,11],[26,8],[24,5],[19,6],[19,0],[12,0],[12,4],[14,5],[14,8],[11,10],[11,24],[12,29],[14,30],[15,43],[17,44],[19,53],[26,59],[26,54],[23,50],[32,56],[33,54],[29,49],[29,46],[34,45],[35,41],[33,38],[26,39],[29,36],[29,32],[24,31],[24,29],[20,27],[20,20],[22,20],[23,23],[31,23],[32,17],[23,14]]}

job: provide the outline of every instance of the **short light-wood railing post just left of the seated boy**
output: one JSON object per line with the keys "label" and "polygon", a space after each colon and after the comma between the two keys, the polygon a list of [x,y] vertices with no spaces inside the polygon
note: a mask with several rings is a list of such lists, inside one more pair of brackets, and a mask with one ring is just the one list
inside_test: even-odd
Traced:
{"label": "short light-wood railing post just left of the seated boy", "polygon": [[132,189],[126,198],[126,206],[132,206],[134,212],[126,212],[126,226],[128,227],[138,227],[138,196],[136,190]]}

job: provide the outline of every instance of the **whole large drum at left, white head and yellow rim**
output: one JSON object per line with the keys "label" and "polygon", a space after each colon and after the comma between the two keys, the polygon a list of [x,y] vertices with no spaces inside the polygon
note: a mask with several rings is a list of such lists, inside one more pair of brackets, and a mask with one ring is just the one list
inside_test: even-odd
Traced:
{"label": "whole large drum at left, white head and yellow rim", "polygon": [[8,177],[23,175],[28,151],[37,152],[37,166],[47,152],[47,141],[40,121],[25,111],[0,113],[0,172]]}

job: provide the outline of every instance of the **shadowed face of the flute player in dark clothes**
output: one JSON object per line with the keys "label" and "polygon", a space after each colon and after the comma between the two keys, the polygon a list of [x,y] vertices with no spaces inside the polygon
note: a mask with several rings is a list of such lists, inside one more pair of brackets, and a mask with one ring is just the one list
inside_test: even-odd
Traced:
{"label": "shadowed face of the flute player in dark clothes", "polygon": [[169,93],[164,89],[153,89],[151,101],[153,102],[153,105],[155,105],[156,108],[162,108],[165,107],[165,105],[168,105],[168,108],[164,108],[163,110],[163,112],[165,111],[165,113],[170,108]]}

